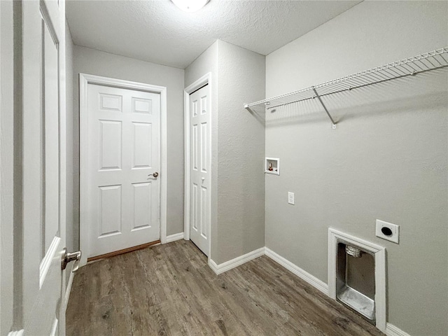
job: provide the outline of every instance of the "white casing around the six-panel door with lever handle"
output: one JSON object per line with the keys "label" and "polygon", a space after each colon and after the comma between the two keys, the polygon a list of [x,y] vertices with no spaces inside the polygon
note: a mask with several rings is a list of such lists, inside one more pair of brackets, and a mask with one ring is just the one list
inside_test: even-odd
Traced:
{"label": "white casing around the six-panel door with lever handle", "polygon": [[[110,87],[118,87],[128,90],[139,90],[144,92],[152,92],[160,94],[160,242],[165,244],[167,241],[167,87],[151,85],[146,83],[137,83],[130,80],[121,80],[116,78],[108,78],[87,73],[79,74],[79,123],[80,123],[80,155],[79,155],[79,195],[80,195],[80,216],[79,216],[79,247],[80,250],[89,246],[87,214],[83,209],[86,208],[87,200],[87,97],[88,85],[105,85]],[[80,265],[87,263],[87,253],[83,253]]]}

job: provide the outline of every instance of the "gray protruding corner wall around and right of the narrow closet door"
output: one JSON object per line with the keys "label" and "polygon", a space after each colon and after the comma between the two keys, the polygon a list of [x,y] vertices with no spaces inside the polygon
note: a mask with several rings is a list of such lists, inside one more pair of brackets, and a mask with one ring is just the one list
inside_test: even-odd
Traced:
{"label": "gray protruding corner wall around and right of the narrow closet door", "polygon": [[186,69],[186,86],[212,73],[211,259],[264,246],[263,120],[244,102],[265,97],[265,57],[216,41]]}

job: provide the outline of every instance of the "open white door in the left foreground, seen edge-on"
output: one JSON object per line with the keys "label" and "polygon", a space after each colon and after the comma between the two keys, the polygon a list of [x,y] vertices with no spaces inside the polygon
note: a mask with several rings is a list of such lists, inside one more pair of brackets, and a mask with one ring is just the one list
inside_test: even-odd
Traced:
{"label": "open white door in the left foreground, seen edge-on", "polygon": [[[65,335],[65,10],[64,1],[17,1],[21,18],[20,192],[22,281],[15,307],[25,335]],[[18,57],[15,57],[18,59]],[[20,64],[20,63],[19,63]]]}

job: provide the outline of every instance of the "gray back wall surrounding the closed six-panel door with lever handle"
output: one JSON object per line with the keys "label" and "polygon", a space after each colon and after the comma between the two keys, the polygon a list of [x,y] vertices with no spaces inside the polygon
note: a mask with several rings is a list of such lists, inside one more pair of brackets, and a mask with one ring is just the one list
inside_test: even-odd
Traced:
{"label": "gray back wall surrounding the closed six-panel door with lever handle", "polygon": [[73,57],[73,237],[79,246],[79,73],[167,87],[167,235],[183,232],[183,76],[182,69],[74,46]]}

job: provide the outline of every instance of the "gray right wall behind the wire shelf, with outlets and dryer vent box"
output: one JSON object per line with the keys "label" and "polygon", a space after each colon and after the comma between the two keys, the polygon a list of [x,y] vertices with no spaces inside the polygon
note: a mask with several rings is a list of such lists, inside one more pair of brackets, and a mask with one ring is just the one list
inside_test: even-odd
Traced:
{"label": "gray right wall behind the wire shelf, with outlets and dryer vent box", "polygon": [[[266,59],[272,97],[448,45],[446,1],[364,1]],[[327,279],[328,228],[386,247],[388,322],[410,335],[448,330],[446,69],[266,116],[268,248]],[[295,193],[288,205],[287,192]],[[400,244],[374,236],[400,225]]]}

